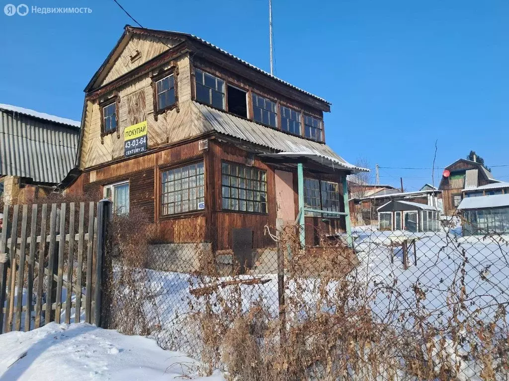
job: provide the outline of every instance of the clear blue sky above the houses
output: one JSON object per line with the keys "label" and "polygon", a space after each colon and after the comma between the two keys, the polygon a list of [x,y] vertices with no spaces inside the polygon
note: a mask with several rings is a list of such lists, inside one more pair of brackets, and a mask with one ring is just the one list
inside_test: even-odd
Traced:
{"label": "clear blue sky above the houses", "polygon": [[[145,27],[192,33],[269,70],[268,0],[119,1]],[[72,5],[92,13],[0,13],[0,103],[80,119],[83,88],[134,23],[112,0]],[[437,167],[474,149],[507,165],[493,174],[509,181],[506,0],[273,0],[273,17],[275,74],[332,103],[326,140],[346,160],[430,168],[438,139]],[[431,182],[431,169],[380,173],[408,190]]]}

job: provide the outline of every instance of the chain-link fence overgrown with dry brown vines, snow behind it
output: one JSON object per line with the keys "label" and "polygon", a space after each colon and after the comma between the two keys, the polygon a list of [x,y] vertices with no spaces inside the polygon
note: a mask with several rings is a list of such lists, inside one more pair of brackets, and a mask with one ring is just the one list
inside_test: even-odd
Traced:
{"label": "chain-link fence overgrown with dry brown vines, snow behind it", "polygon": [[[353,228],[301,247],[165,242],[112,229],[111,328],[154,338],[238,380],[507,380],[509,246],[459,226]],[[131,232],[125,234],[126,231]],[[132,233],[135,231],[136,233]],[[193,232],[189,232],[191,236]],[[246,257],[249,252],[249,258]],[[240,254],[239,254],[240,252]],[[242,261],[242,263],[241,263]]]}

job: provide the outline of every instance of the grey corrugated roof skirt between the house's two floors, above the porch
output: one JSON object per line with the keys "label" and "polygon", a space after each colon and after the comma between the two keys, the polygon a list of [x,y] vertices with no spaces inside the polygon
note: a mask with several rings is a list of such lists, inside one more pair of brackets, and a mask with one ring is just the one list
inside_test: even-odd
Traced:
{"label": "grey corrugated roof skirt between the house's two floors, above the porch", "polygon": [[362,170],[348,163],[324,143],[286,134],[262,124],[213,109],[201,103],[192,103],[210,123],[210,130],[268,147],[279,152],[314,154],[323,158],[330,157],[337,161],[337,163],[342,163],[345,168]]}

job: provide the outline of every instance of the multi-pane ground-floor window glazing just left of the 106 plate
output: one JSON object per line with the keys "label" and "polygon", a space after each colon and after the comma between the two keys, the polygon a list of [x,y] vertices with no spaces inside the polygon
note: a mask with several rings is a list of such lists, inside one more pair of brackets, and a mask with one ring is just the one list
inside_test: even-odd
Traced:
{"label": "multi-pane ground-floor window glazing just left of the 106 plate", "polygon": [[203,162],[161,173],[161,214],[170,215],[205,209]]}

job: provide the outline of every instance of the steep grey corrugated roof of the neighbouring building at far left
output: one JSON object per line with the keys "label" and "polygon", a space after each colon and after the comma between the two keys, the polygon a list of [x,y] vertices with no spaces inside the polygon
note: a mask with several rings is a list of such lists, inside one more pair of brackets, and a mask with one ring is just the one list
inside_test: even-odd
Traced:
{"label": "steep grey corrugated roof of the neighbouring building at far left", "polygon": [[0,110],[0,174],[60,183],[74,167],[79,129]]}

